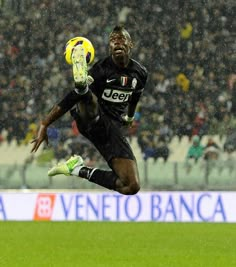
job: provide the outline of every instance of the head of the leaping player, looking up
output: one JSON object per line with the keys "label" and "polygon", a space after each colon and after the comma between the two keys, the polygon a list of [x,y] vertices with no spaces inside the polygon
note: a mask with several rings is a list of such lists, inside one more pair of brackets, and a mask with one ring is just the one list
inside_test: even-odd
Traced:
{"label": "head of the leaping player, looking up", "polygon": [[128,31],[123,26],[116,26],[109,36],[109,50],[113,60],[127,61],[132,48],[133,42]]}

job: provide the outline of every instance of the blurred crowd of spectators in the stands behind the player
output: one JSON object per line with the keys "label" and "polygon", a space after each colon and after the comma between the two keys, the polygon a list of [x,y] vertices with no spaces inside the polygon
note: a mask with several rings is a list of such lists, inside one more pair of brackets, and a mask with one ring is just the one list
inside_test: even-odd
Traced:
{"label": "blurred crowd of spectators in the stands behind the player", "polygon": [[[4,8],[4,2],[12,6]],[[138,137],[145,159],[167,160],[173,136],[187,135],[191,140],[235,129],[233,1],[1,3],[2,140],[27,144],[42,115],[73,88],[72,70],[63,56],[65,43],[86,36],[95,46],[96,61],[107,55],[108,36],[116,24],[126,26],[135,43],[133,58],[150,74],[135,127],[128,133]],[[69,115],[54,124],[50,137],[58,159],[74,152],[71,143],[84,142]],[[78,149],[91,160],[96,158],[96,151],[84,145]]]}

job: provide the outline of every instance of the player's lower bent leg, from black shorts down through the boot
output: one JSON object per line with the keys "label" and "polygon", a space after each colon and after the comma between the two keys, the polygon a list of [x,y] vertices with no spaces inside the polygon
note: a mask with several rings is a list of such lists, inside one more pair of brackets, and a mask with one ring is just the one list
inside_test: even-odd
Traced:
{"label": "player's lower bent leg, from black shorts down through the boot", "polygon": [[[84,166],[79,156],[71,157],[67,162],[53,167],[48,175],[74,175],[105,188],[122,194],[136,194],[139,191],[139,177],[132,149],[123,136],[119,126],[116,126],[104,114],[94,123],[83,123],[77,118],[80,132],[86,136],[106,159],[111,170],[102,170]],[[82,126],[81,126],[82,125]],[[83,125],[85,128],[83,128]],[[86,128],[87,127],[87,128]]]}

